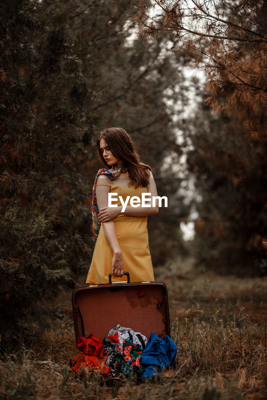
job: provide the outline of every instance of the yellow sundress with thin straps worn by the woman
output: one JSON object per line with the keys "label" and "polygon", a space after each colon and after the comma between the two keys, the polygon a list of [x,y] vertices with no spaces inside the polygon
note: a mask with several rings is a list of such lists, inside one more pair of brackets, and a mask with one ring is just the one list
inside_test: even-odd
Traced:
{"label": "yellow sundress with thin straps worn by the woman", "polygon": [[[127,196],[138,196],[142,198],[142,193],[147,193],[147,188],[134,188],[134,186],[111,184],[111,193],[117,193],[117,205],[121,206],[119,196],[125,202]],[[112,200],[112,204],[116,204]],[[129,202],[128,202],[129,204]],[[141,206],[140,206],[141,207]],[[124,271],[129,272],[130,282],[154,281],[152,261],[148,246],[148,217],[136,217],[119,215],[114,219],[117,239],[121,248]],[[104,284],[109,282],[109,273],[112,269],[113,251],[105,237],[101,225],[99,235],[95,243],[95,249],[86,283]],[[114,278],[112,281],[123,281],[126,277]]]}

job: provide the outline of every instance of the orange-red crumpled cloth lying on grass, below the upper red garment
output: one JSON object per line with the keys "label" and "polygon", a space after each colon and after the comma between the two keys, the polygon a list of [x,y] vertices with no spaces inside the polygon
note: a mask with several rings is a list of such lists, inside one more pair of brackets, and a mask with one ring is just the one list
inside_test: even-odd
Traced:
{"label": "orange-red crumpled cloth lying on grass, below the upper red garment", "polygon": [[[75,360],[79,358],[76,362]],[[100,372],[103,375],[109,374],[109,367],[106,365],[106,357],[96,357],[96,356],[86,356],[83,353],[78,353],[76,356],[70,360],[69,365],[71,370],[76,372],[78,375],[83,374],[86,370],[91,370],[92,368],[96,372]]]}

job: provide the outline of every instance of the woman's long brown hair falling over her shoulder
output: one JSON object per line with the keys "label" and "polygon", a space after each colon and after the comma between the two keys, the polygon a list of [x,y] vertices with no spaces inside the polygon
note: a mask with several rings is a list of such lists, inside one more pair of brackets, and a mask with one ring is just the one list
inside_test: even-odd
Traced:
{"label": "woman's long brown hair falling over her shoulder", "polygon": [[103,163],[109,167],[100,150],[101,139],[105,140],[113,156],[121,160],[124,167],[127,167],[130,178],[129,186],[132,185],[136,188],[148,186],[151,167],[140,161],[140,156],[136,152],[137,148],[129,134],[122,128],[107,128],[99,135],[97,150]]}

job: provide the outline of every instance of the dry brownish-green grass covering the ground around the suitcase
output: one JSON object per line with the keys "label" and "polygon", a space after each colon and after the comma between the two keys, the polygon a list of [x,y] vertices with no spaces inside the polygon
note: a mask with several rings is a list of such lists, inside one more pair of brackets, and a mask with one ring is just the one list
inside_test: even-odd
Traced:
{"label": "dry brownish-green grass covering the ground around the suitcase", "polygon": [[[71,293],[65,312],[42,343],[24,344],[0,361],[1,399],[265,399],[267,398],[267,278],[175,275],[158,270],[168,287],[177,369],[170,378],[124,380],[109,386],[91,373],[76,379]],[[137,383],[137,384],[136,384]]]}

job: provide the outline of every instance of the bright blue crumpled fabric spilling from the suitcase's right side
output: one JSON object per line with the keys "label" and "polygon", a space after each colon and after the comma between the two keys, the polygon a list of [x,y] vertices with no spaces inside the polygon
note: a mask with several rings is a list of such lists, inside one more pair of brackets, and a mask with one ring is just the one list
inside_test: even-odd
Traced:
{"label": "bright blue crumpled fabric spilling from the suitcase's right side", "polygon": [[174,364],[176,352],[175,343],[168,335],[161,339],[152,332],[140,358],[144,372],[139,376],[145,378],[146,376],[160,374],[163,368],[168,368]]}

